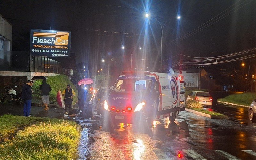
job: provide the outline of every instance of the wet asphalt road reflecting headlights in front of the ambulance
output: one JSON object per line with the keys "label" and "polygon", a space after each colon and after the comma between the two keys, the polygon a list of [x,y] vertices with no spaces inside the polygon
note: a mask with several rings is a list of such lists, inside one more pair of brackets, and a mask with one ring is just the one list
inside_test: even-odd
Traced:
{"label": "wet asphalt road reflecting headlights in front of the ambulance", "polygon": [[227,120],[183,111],[151,129],[83,123],[78,159],[256,159],[256,123],[232,110]]}

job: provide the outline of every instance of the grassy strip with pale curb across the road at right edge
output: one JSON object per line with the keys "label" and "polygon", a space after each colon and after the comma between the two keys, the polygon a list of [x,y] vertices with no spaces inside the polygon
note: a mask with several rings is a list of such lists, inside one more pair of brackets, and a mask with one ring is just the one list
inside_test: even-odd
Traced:
{"label": "grassy strip with pale curb across the road at right edge", "polygon": [[225,98],[220,98],[217,101],[250,106],[254,99],[256,99],[256,92],[245,92],[242,94],[232,94]]}

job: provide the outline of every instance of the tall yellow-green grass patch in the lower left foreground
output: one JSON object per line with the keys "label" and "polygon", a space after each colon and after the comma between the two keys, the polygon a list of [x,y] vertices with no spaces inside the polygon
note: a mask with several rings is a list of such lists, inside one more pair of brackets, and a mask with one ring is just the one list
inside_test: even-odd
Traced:
{"label": "tall yellow-green grass patch in the lower left foreground", "polygon": [[0,159],[75,158],[80,133],[74,122],[4,115],[0,126]]}

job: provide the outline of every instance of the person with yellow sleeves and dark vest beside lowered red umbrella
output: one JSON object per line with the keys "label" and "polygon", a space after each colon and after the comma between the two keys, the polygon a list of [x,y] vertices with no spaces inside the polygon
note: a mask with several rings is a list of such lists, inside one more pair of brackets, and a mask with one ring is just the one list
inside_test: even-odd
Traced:
{"label": "person with yellow sleeves and dark vest beside lowered red umbrella", "polygon": [[68,112],[71,111],[73,97],[76,95],[76,93],[70,88],[70,85],[68,84],[67,88],[62,92],[62,95],[65,96],[65,114],[68,114]]}

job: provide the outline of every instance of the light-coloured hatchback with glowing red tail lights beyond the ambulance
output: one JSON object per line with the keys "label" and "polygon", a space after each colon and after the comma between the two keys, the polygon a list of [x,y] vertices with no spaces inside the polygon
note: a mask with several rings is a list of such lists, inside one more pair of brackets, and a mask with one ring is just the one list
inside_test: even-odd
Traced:
{"label": "light-coloured hatchback with glowing red tail lights beyond the ambulance", "polygon": [[204,107],[212,107],[212,96],[209,92],[193,91],[188,95],[187,100],[195,100]]}

